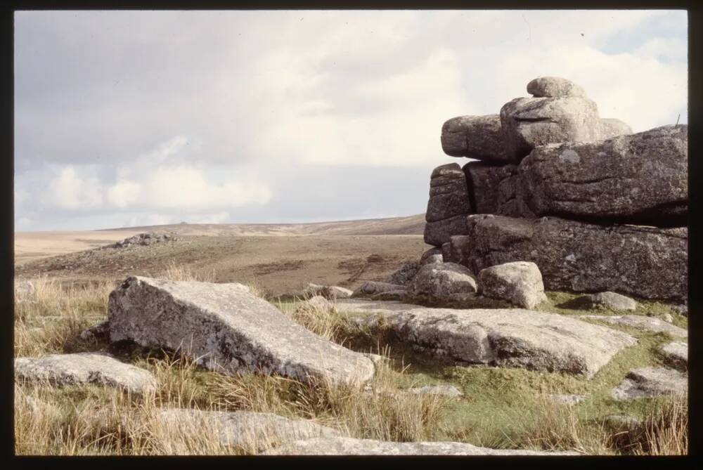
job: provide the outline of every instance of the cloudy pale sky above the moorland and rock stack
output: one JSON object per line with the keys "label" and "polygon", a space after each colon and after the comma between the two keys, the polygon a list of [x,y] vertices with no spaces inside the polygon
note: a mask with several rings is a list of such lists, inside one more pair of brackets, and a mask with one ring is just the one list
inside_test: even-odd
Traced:
{"label": "cloudy pale sky above the moorland and rock stack", "polygon": [[420,214],[441,124],[572,79],[688,122],[685,11],[15,13],[15,230]]}

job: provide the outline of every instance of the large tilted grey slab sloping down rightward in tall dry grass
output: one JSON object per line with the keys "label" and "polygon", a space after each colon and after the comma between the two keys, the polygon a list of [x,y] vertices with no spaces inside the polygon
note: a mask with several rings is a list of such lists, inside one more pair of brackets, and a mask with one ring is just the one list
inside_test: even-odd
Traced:
{"label": "large tilted grey slab sloping down rightward in tall dry grass", "polygon": [[283,315],[244,285],[133,276],[110,293],[110,340],[183,351],[209,370],[359,383],[373,363]]}

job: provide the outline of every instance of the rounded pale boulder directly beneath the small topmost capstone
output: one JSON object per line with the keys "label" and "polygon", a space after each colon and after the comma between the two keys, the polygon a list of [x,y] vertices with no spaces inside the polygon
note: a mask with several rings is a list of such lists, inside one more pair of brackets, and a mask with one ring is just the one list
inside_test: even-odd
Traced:
{"label": "rounded pale boulder directly beneath the small topmost capstone", "polygon": [[583,96],[515,98],[501,107],[505,147],[520,162],[539,145],[600,138],[598,106]]}

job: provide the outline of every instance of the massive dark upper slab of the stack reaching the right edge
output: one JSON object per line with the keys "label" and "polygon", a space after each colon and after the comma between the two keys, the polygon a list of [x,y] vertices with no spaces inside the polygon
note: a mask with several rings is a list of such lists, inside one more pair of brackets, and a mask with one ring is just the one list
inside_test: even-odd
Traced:
{"label": "massive dark upper slab of the stack reaching the right edge", "polygon": [[522,216],[685,226],[688,126],[543,145],[522,160],[519,174]]}

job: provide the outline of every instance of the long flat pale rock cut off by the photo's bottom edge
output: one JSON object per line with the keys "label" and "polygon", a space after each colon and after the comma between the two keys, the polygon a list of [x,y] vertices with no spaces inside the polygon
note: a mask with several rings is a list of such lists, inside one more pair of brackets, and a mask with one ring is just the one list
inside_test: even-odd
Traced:
{"label": "long flat pale rock cut off by the photo's bottom edge", "polygon": [[578,455],[577,452],[489,449],[467,443],[400,443],[355,438],[314,438],[266,450],[264,455]]}

